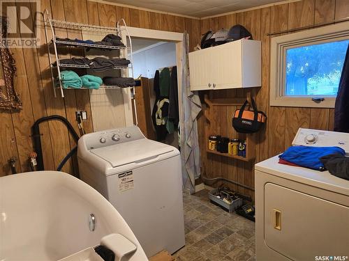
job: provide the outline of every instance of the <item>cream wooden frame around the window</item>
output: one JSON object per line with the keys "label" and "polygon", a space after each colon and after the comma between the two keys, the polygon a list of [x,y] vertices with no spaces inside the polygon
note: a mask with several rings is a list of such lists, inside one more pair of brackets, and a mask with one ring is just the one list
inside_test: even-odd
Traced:
{"label": "cream wooden frame around the window", "polygon": [[[270,106],[334,108],[334,95],[285,95],[286,50],[340,40],[349,40],[349,22],[273,37],[270,56]],[[313,102],[314,97],[323,97],[325,100]]]}

